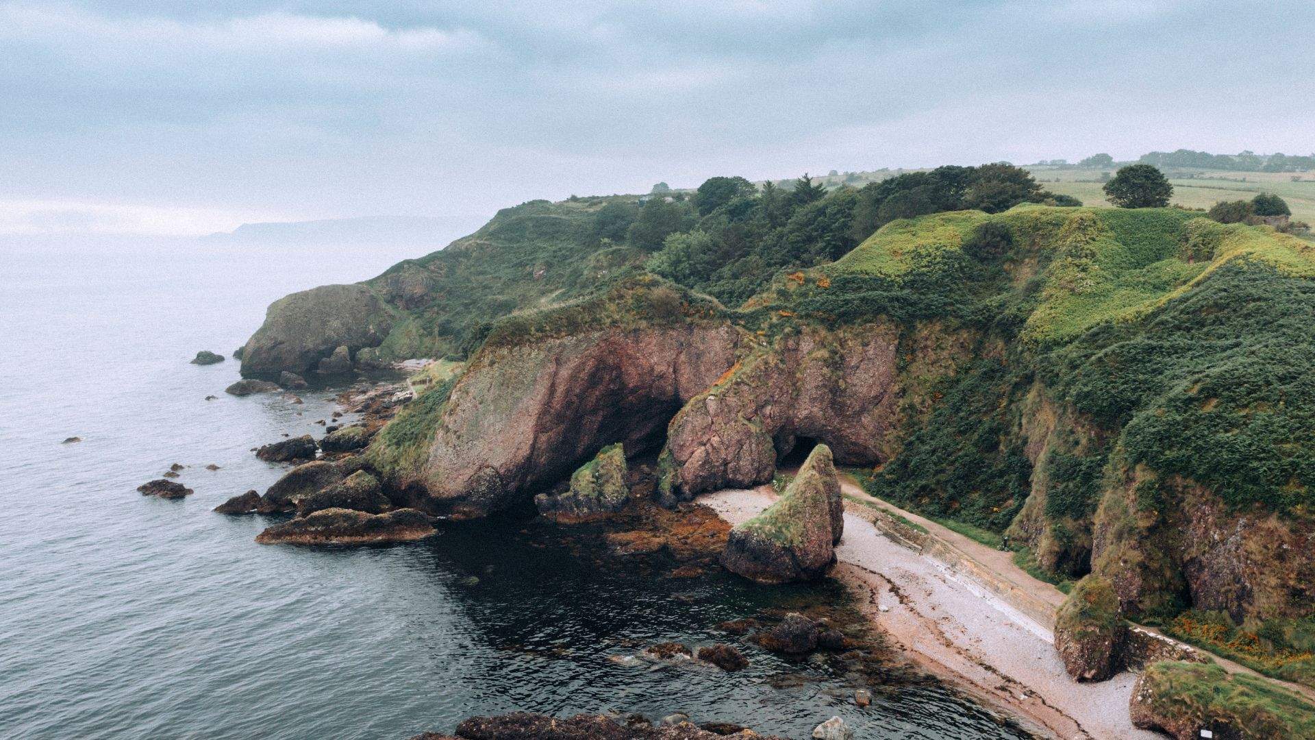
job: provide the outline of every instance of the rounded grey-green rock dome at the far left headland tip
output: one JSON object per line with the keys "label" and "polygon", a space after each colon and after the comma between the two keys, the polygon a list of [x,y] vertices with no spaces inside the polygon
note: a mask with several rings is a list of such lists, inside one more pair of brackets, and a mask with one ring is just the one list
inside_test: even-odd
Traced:
{"label": "rounded grey-green rock dome at the far left headland tip", "polygon": [[366,286],[321,286],[284,296],[242,350],[243,377],[306,373],[337,348],[379,346],[392,315]]}

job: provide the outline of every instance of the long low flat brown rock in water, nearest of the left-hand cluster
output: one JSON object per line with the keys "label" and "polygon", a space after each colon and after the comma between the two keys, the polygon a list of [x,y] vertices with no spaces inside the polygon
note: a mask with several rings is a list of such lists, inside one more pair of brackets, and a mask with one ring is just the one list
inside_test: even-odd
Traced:
{"label": "long low flat brown rock in water, nearest of the left-hand cluster", "polygon": [[398,508],[388,514],[323,508],[309,516],[275,524],[256,535],[255,541],[289,545],[360,545],[409,542],[434,533],[429,516],[414,508]]}

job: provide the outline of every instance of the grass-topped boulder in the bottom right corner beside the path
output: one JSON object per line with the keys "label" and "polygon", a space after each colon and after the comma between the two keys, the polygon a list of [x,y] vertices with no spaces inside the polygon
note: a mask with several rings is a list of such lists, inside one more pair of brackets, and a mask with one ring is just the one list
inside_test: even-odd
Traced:
{"label": "grass-topped boulder in the bottom right corner beside the path", "polygon": [[1140,683],[1153,716],[1186,728],[1223,724],[1243,737],[1315,737],[1315,706],[1253,675],[1218,665],[1157,662]]}

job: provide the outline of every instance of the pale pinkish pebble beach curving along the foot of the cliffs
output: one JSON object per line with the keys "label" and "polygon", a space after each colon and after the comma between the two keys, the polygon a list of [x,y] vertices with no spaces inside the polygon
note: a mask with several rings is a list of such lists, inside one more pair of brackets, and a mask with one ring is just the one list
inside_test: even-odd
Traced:
{"label": "pale pinkish pebble beach curving along the foot of the cliffs", "polygon": [[[759,487],[705,494],[698,502],[739,524],[775,499]],[[1132,726],[1134,673],[1099,683],[1073,681],[1055,652],[1049,625],[1010,606],[989,583],[892,539],[873,516],[871,508],[846,500],[832,575],[913,665],[1043,736],[1161,737]]]}

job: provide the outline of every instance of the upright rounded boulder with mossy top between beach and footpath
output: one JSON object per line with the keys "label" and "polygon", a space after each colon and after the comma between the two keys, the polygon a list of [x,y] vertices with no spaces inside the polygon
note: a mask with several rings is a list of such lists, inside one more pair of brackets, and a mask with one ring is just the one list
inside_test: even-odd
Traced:
{"label": "upright rounded boulder with mossy top between beach and footpath", "polygon": [[1078,581],[1055,618],[1055,649],[1077,681],[1105,681],[1119,673],[1126,635],[1114,585],[1102,575]]}

